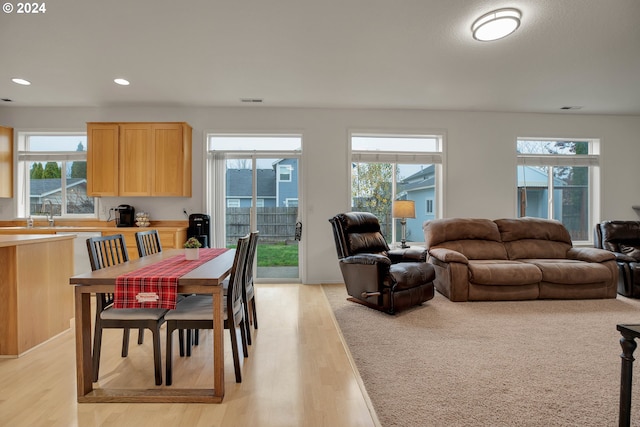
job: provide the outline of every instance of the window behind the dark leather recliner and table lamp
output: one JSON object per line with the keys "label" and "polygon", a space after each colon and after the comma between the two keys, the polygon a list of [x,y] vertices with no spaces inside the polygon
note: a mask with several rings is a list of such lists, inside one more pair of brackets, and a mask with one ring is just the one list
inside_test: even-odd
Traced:
{"label": "window behind the dark leather recliner and table lamp", "polygon": [[[441,215],[442,135],[351,135],[351,206],[371,212],[390,242],[400,241],[399,218],[391,218],[393,200],[413,200],[415,218],[407,219],[407,240],[424,241],[422,224]],[[394,221],[395,219],[395,221]]]}

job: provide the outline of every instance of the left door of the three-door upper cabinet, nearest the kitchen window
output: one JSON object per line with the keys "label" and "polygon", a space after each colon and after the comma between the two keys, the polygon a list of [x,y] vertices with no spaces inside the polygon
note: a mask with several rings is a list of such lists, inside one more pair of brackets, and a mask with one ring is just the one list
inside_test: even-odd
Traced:
{"label": "left door of the three-door upper cabinet, nearest the kitchen window", "polygon": [[118,124],[87,124],[87,195],[118,195]]}

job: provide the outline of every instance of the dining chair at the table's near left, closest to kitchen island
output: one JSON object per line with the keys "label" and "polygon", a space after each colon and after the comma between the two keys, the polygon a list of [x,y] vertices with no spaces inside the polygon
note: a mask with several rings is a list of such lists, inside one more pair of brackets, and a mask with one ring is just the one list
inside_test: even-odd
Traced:
{"label": "dining chair at the table's near left, closest to kitchen island", "polygon": [[[91,270],[100,270],[129,261],[122,234],[87,239]],[[98,381],[103,329],[124,329],[122,357],[129,354],[129,330],[149,329],[153,334],[153,360],[156,385],[162,384],[160,326],[164,323],[164,308],[113,308],[114,293],[96,294],[96,320],[93,335],[93,381]],[[140,339],[138,339],[140,342]]]}

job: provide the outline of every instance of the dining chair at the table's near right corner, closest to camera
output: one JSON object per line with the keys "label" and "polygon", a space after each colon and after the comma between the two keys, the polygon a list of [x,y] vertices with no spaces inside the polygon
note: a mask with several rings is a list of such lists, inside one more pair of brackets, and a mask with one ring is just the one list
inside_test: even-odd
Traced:
{"label": "dining chair at the table's near right corner, closest to camera", "polygon": [[[240,328],[242,337],[242,352],[248,356],[246,326],[244,318],[244,304],[242,300],[243,266],[249,250],[249,235],[238,239],[233,265],[229,276],[229,292],[223,300],[223,315],[225,329],[229,329],[231,336],[231,351],[233,353],[233,365],[236,374],[236,382],[242,382],[240,372],[240,356],[238,352],[237,328]],[[167,322],[167,350],[166,350],[166,385],[172,383],[172,335],[176,329],[213,329],[213,296],[193,295],[180,301],[175,310],[169,310],[164,316]],[[187,340],[188,342],[189,340]]]}

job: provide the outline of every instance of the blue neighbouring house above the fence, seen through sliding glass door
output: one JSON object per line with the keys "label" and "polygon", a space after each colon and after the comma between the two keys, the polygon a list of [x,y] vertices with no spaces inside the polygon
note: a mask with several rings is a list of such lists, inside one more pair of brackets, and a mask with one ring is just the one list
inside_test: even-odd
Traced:
{"label": "blue neighbouring house above the fence, seen through sliding glass door", "polygon": [[[298,206],[298,161],[277,160],[270,169],[257,169],[257,207]],[[251,206],[252,170],[227,169],[226,194],[229,208]]]}

